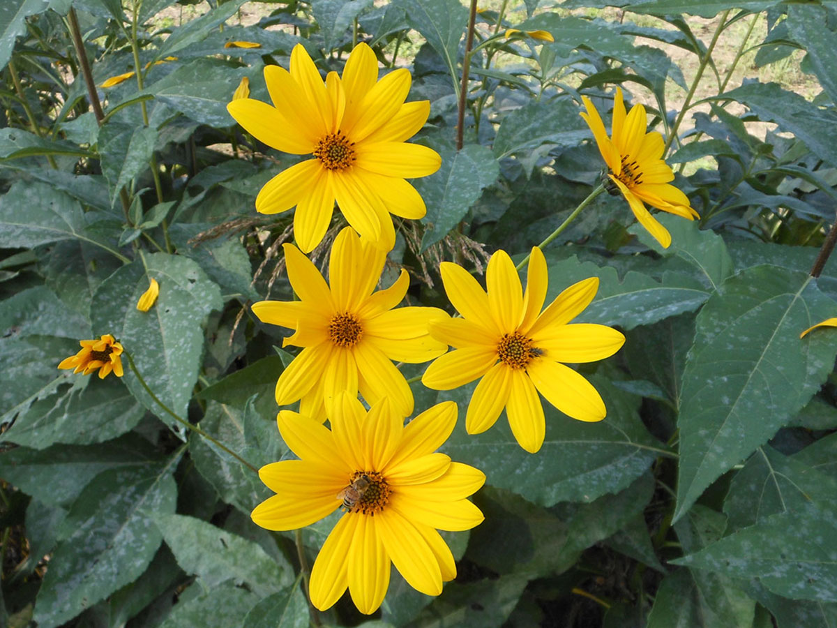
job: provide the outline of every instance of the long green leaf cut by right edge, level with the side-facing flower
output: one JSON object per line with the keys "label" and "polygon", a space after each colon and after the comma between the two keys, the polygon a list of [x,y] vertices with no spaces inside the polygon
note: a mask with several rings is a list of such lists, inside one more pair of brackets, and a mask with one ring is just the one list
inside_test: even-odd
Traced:
{"label": "long green leaf cut by right edge, level with the side-facing flower", "polygon": [[776,83],[747,83],[720,98],[748,106],[761,121],[775,122],[780,131],[793,133],[811,152],[837,166],[837,145],[831,141],[837,112],[820,109]]}

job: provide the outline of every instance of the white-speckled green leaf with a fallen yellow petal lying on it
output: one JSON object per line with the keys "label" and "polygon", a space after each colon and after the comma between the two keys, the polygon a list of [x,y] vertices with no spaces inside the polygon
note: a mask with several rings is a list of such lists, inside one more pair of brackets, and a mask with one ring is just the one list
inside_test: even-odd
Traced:
{"label": "white-speckled green leaf with a fallen yellow petal lying on it", "polygon": [[[160,296],[151,310],[139,311],[136,301],[151,278],[160,284]],[[131,353],[157,397],[185,418],[203,353],[201,327],[208,313],[222,306],[218,286],[193,260],[155,253],[145,256],[145,265],[135,261],[102,282],[91,315],[95,329],[113,334]],[[171,417],[146,393],[127,359],[124,367],[123,381],[134,396],[169,423]]]}

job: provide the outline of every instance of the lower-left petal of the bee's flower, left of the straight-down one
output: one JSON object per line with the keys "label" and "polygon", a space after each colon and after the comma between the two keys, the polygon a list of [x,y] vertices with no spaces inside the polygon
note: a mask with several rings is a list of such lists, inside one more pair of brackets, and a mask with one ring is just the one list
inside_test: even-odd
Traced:
{"label": "lower-left petal of the bee's flower, left of the straight-down one", "polygon": [[308,587],[311,604],[319,610],[331,608],[349,585],[347,556],[361,518],[362,515],[352,513],[343,515],[329,533],[326,543],[322,544],[314,561]]}

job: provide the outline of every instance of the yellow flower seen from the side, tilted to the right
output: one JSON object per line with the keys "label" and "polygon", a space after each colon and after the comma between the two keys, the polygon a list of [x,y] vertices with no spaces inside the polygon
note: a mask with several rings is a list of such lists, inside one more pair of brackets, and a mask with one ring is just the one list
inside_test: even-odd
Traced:
{"label": "yellow flower seen from the side, tilted to the right", "polygon": [[662,158],[665,149],[663,136],[656,131],[645,132],[644,106],[634,105],[625,115],[622,90],[618,87],[609,138],[593,103],[587,96],[582,96],[582,100],[587,113],[582,112],[581,116],[593,131],[598,152],[602,153],[608,165],[605,188],[614,195],[621,192],[639,224],[667,248],[671,244],[668,229],[651,216],[644,203],[690,220],[701,216],[691,208],[686,194],[669,184],[675,175]]}

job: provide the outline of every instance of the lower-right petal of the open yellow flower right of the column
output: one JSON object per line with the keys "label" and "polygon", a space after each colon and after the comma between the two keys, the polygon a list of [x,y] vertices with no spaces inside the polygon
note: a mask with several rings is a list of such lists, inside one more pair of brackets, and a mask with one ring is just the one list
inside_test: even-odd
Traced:
{"label": "lower-right petal of the open yellow flower right of the column", "polygon": [[552,360],[535,360],[526,372],[537,391],[567,416],[579,421],[603,420],[607,410],[601,395],[572,368]]}

